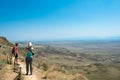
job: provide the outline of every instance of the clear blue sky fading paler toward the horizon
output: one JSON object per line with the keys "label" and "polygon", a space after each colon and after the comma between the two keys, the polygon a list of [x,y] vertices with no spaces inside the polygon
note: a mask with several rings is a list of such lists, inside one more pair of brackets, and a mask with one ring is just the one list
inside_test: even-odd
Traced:
{"label": "clear blue sky fading paler toward the horizon", "polygon": [[11,41],[120,36],[120,0],[0,0],[0,36]]}

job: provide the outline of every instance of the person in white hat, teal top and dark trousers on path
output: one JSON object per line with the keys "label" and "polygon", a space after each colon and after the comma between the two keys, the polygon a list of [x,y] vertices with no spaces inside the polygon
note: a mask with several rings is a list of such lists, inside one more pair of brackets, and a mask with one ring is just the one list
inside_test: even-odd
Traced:
{"label": "person in white hat, teal top and dark trousers on path", "polygon": [[28,47],[26,47],[26,75],[29,73],[29,67],[30,67],[30,75],[32,75],[33,68],[32,68],[32,63],[33,63],[33,47],[32,43],[30,42],[28,44]]}

